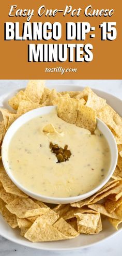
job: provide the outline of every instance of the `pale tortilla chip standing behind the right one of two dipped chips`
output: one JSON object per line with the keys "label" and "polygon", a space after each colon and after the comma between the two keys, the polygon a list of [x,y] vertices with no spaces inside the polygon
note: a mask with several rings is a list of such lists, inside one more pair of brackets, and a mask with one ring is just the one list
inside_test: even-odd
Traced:
{"label": "pale tortilla chip standing behind the right one of two dipped chips", "polygon": [[106,100],[97,96],[94,92],[88,94],[86,106],[95,110],[100,110],[106,104]]}

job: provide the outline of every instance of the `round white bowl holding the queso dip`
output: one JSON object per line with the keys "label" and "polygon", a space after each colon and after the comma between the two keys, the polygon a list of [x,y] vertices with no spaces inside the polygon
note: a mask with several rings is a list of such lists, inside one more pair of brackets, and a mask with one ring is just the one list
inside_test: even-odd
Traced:
{"label": "round white bowl holding the queso dip", "polygon": [[97,186],[95,189],[87,192],[87,193],[78,195],[76,197],[69,197],[69,198],[45,197],[44,195],[34,193],[34,192],[26,189],[25,187],[23,187],[16,180],[16,178],[14,178],[14,175],[11,173],[11,170],[9,168],[9,164],[7,162],[7,160],[8,160],[8,147],[9,147],[10,141],[11,141],[12,136],[14,135],[14,133],[16,133],[16,131],[22,125],[24,125],[26,122],[28,122],[30,119],[38,117],[38,116],[40,116],[40,114],[41,115],[47,114],[54,108],[56,108],[56,107],[55,106],[53,106],[53,107],[43,107],[43,108],[38,108],[38,109],[35,109],[35,110],[32,110],[32,111],[29,111],[29,112],[25,113],[24,115],[20,116],[11,125],[10,128],[8,129],[8,131],[6,132],[6,135],[5,135],[4,140],[3,140],[2,160],[3,160],[4,168],[5,168],[8,176],[12,180],[12,182],[18,188],[20,188],[23,192],[28,194],[30,197],[35,198],[37,200],[40,200],[42,202],[54,203],[54,204],[59,204],[59,203],[66,204],[66,203],[71,203],[71,202],[77,202],[77,201],[80,201],[80,200],[83,200],[85,198],[90,197],[90,195],[93,195],[95,192],[97,192],[99,189],[101,189],[108,182],[110,177],[112,176],[112,174],[115,170],[116,164],[117,164],[118,153],[117,153],[116,141],[114,139],[114,136],[113,136],[111,130],[99,118],[97,118],[97,127],[103,133],[104,137],[108,141],[108,144],[109,144],[109,147],[110,147],[110,152],[111,152],[111,163],[110,163],[110,168],[108,170],[108,173],[106,174],[106,176],[104,177],[104,179],[100,183],[100,185]]}

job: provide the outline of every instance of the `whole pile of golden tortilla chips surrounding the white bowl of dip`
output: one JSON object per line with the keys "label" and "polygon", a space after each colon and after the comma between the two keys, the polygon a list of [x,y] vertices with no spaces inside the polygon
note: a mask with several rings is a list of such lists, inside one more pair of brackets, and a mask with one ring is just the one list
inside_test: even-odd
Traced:
{"label": "whole pile of golden tortilla chips surrounding the white bowl of dip", "polygon": [[64,121],[94,133],[96,116],[113,132],[118,147],[118,162],[109,182],[91,197],[66,205],[50,205],[28,197],[7,176],[0,162],[0,212],[11,228],[32,242],[63,240],[80,233],[102,231],[102,216],[115,229],[122,222],[122,118],[89,87],[80,92],[56,92],[43,80],[31,80],[25,91],[9,99],[13,111],[1,108],[0,142],[9,126],[22,114],[43,106],[57,105]]}

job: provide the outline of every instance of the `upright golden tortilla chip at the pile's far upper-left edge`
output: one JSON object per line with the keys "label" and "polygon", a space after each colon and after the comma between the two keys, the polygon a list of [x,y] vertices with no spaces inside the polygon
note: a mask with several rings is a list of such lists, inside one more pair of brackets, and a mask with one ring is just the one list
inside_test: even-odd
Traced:
{"label": "upright golden tortilla chip at the pile's far upper-left edge", "polygon": [[16,95],[14,95],[11,99],[8,100],[9,106],[12,109],[17,110],[19,107],[20,101],[23,99],[23,96],[24,96],[23,91],[18,92]]}

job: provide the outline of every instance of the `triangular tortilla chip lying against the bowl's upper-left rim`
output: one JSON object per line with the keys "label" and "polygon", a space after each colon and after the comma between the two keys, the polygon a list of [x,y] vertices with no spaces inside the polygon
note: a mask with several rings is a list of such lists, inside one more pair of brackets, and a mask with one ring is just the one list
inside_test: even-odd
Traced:
{"label": "triangular tortilla chip lying against the bowl's upper-left rim", "polygon": [[21,100],[19,103],[19,107],[18,107],[18,111],[17,111],[17,116],[23,115],[26,112],[33,110],[33,109],[38,109],[41,108],[42,105],[38,104],[38,103],[34,103],[31,101],[27,101],[27,100]]}

